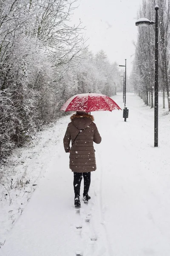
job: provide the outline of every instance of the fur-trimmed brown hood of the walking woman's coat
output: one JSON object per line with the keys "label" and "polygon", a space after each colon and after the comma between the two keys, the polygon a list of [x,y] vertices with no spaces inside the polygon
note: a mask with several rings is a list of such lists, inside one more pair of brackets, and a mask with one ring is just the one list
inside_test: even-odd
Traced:
{"label": "fur-trimmed brown hood of the walking woman's coat", "polygon": [[70,119],[72,124],[78,129],[85,129],[94,121],[94,117],[87,113],[81,115],[74,114]]}

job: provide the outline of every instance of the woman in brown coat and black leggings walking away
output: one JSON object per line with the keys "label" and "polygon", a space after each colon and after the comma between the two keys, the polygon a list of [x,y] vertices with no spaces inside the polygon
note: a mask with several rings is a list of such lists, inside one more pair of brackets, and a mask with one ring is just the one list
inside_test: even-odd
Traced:
{"label": "woman in brown coat and black leggings walking away", "polygon": [[[91,172],[96,170],[96,159],[93,142],[99,144],[102,140],[95,125],[94,117],[83,111],[77,111],[71,116],[64,137],[64,148],[70,153],[70,169],[74,172],[74,205],[80,207],[80,185],[84,178],[83,201],[91,198],[88,190],[91,183]],[[71,148],[70,148],[71,142]]]}

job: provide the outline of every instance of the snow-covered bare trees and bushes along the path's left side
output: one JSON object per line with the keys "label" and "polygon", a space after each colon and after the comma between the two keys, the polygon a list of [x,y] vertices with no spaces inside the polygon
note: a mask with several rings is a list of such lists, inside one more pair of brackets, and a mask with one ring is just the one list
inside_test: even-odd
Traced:
{"label": "snow-covered bare trees and bushes along the path's left side", "polygon": [[76,0],[0,0],[0,163],[77,93],[116,94],[119,70],[72,25]]}

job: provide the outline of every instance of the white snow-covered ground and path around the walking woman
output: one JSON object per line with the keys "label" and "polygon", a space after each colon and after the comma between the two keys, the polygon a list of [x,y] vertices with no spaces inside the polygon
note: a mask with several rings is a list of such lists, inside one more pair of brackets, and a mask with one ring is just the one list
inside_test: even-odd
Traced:
{"label": "white snow-covered ground and path around the walking woman", "polygon": [[[123,109],[122,95],[113,99]],[[0,256],[169,256],[170,115],[161,105],[158,148],[154,110],[139,97],[127,94],[127,122],[122,111],[92,113],[102,143],[79,213],[62,145],[69,116],[17,151],[0,186]]]}

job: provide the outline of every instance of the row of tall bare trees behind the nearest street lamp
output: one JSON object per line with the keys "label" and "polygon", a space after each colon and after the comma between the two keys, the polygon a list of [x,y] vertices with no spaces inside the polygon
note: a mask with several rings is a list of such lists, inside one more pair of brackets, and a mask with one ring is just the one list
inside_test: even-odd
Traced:
{"label": "row of tall bare trees behind the nearest street lamp", "polygon": [[[137,19],[145,17],[155,21],[155,6],[159,6],[159,91],[170,111],[170,0],[143,0]],[[154,107],[155,25],[140,27],[136,43],[130,82],[151,108]],[[166,95],[166,96],[165,96]]]}

